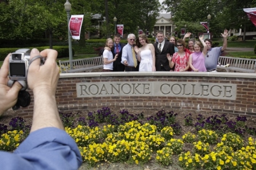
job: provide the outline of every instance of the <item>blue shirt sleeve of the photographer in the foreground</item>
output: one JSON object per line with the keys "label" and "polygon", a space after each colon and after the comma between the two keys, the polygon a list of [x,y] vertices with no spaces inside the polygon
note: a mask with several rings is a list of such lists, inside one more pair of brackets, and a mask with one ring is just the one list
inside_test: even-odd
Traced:
{"label": "blue shirt sleeve of the photographer in the foreground", "polygon": [[0,167],[5,170],[78,169],[81,164],[74,139],[55,127],[31,132],[13,154],[0,152]]}

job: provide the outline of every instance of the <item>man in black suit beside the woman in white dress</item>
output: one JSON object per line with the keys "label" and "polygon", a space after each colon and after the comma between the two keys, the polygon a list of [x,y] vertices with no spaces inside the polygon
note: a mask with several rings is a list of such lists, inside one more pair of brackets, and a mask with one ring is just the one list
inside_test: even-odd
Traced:
{"label": "man in black suit beside the woman in white dress", "polygon": [[165,41],[165,36],[163,36],[163,31],[157,32],[158,42],[154,43],[155,47],[155,69],[156,71],[167,71],[171,70],[169,66],[169,61],[167,59],[167,53],[171,56],[174,54],[174,44]]}

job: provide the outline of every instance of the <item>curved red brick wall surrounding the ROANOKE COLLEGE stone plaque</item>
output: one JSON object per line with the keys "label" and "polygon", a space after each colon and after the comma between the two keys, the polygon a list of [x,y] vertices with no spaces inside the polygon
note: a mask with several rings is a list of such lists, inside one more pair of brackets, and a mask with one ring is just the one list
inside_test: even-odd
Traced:
{"label": "curved red brick wall surrounding the ROANOKE COLLEGE stone plaque", "polygon": [[[113,96],[113,97],[77,97],[76,84],[81,82],[202,82],[217,84],[236,84],[235,100],[163,97],[163,96]],[[30,92],[31,94],[31,92]],[[247,73],[67,73],[61,74],[57,87],[59,111],[91,110],[102,107],[122,109],[186,109],[206,112],[228,113],[256,116],[256,74]],[[47,108],[46,108],[47,109]],[[33,114],[33,94],[29,107],[19,110],[18,115],[29,118]]]}

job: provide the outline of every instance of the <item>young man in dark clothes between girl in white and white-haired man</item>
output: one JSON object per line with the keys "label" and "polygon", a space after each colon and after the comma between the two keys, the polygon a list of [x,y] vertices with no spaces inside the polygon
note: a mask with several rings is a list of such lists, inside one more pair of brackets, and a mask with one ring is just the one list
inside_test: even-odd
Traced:
{"label": "young man in dark clothes between girl in white and white-haired man", "polygon": [[111,50],[113,56],[118,53],[117,60],[113,62],[113,72],[123,72],[125,71],[125,65],[121,63],[122,60],[122,49],[126,44],[120,43],[121,36],[115,34],[114,36],[114,48]]}

